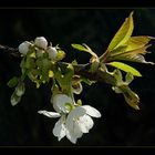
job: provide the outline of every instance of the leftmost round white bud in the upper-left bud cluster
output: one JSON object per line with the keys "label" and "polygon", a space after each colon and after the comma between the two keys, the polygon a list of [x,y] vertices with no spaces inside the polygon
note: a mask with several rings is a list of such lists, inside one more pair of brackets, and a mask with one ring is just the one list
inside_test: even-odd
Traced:
{"label": "leftmost round white bud in the upper-left bud cluster", "polygon": [[31,43],[29,41],[24,41],[19,45],[19,52],[25,55],[29,52],[29,46]]}

